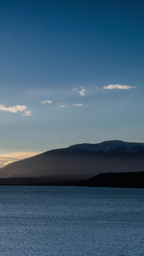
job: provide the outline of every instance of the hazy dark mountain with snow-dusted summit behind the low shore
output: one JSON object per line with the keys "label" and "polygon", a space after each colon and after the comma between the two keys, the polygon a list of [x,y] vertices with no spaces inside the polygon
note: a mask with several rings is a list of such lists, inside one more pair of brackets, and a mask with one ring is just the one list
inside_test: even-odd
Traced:
{"label": "hazy dark mountain with snow-dusted summit behind the low shore", "polygon": [[55,181],[60,179],[60,175],[68,180],[79,175],[79,179],[88,179],[110,170],[144,171],[144,143],[112,140],[50,150],[1,168],[0,178],[43,176],[45,180],[53,177]]}

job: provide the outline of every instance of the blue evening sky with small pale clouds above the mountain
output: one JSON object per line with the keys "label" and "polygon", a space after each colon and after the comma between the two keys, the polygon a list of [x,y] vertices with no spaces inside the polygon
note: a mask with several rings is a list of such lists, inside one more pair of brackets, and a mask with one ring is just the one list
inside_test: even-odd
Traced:
{"label": "blue evening sky with small pale clouds above the mountain", "polygon": [[0,167],[78,143],[144,143],[144,2],[1,0],[0,134]]}

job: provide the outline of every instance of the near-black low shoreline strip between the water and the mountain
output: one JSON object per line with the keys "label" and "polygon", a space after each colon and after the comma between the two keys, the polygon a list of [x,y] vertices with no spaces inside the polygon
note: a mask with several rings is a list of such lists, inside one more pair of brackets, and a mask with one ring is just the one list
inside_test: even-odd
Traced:
{"label": "near-black low shoreline strip between the water and the mountain", "polygon": [[80,179],[78,176],[72,176],[70,179],[65,175],[60,176],[59,178],[56,178],[55,175],[51,177],[2,178],[0,185],[144,188],[144,171],[101,173],[90,179]]}

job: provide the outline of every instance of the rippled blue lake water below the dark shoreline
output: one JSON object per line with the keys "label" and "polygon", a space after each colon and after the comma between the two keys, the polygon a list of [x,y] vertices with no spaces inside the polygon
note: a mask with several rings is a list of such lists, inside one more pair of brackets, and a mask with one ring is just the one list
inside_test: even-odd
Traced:
{"label": "rippled blue lake water below the dark shoreline", "polygon": [[144,256],[144,189],[0,186],[0,256]]}

